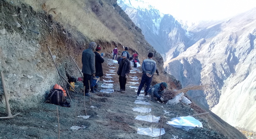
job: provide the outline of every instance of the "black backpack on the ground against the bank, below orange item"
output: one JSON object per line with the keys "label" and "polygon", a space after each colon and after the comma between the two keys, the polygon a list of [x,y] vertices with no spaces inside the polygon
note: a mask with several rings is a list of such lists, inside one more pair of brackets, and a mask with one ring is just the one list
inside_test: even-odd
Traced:
{"label": "black backpack on the ground against the bank, below orange item", "polygon": [[51,89],[46,102],[60,105],[65,102],[64,93],[60,89]]}

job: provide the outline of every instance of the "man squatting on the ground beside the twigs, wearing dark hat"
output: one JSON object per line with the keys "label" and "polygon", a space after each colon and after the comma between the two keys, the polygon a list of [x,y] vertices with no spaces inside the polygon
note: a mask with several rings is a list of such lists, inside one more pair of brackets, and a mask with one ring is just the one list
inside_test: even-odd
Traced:
{"label": "man squatting on the ground beside the twigs, wearing dark hat", "polygon": [[151,97],[157,97],[157,100],[161,100],[162,102],[164,101],[164,98],[162,98],[162,93],[164,93],[167,88],[167,83],[162,82],[162,83],[157,83],[156,85],[152,86],[149,90],[148,93],[151,95]]}

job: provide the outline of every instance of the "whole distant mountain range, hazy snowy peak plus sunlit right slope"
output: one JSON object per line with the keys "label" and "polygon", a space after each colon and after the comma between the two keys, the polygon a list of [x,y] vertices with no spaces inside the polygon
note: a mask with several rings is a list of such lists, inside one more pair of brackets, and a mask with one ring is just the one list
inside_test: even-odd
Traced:
{"label": "whole distant mountain range, hazy snowy peak plus sunlit right slope", "polygon": [[227,20],[202,22],[188,33],[171,15],[150,6],[125,6],[133,1],[141,2],[118,4],[166,59],[165,70],[183,87],[210,85],[187,94],[229,124],[256,131],[256,8]]}

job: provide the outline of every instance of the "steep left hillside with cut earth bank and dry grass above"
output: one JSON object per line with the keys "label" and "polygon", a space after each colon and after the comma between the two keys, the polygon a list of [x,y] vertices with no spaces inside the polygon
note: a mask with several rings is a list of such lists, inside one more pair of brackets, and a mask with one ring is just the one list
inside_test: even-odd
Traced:
{"label": "steep left hillside with cut earth bank and dry grass above", "polygon": [[[54,0],[0,2],[0,69],[15,109],[44,101],[45,92],[60,81],[48,46],[56,56],[61,75],[80,76],[71,57],[81,68],[82,51],[90,41],[100,44],[106,56],[116,45],[119,53],[127,46],[131,54],[138,53],[141,59],[153,52],[162,73],[162,57],[115,1],[77,1],[71,7],[68,0],[61,4]],[[169,83],[175,80],[169,79]],[[3,100],[1,111],[5,108]]]}

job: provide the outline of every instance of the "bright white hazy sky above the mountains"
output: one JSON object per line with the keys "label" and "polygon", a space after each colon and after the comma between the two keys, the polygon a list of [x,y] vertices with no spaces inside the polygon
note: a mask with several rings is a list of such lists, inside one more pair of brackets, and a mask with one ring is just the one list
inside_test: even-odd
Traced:
{"label": "bright white hazy sky above the mountains", "polygon": [[256,0],[144,0],[160,12],[190,22],[234,16],[256,7]]}

